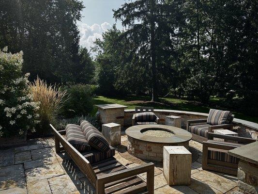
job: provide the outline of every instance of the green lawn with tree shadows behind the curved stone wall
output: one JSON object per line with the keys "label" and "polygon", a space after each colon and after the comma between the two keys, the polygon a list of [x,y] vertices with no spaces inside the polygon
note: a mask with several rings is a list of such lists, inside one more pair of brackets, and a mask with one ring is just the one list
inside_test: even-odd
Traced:
{"label": "green lawn with tree shadows behind the curved stone wall", "polygon": [[[160,102],[150,102],[150,97],[144,96],[124,96],[124,97],[103,97],[96,96],[93,98],[93,104],[121,104],[128,106],[127,109],[134,109],[136,106],[152,106],[155,109],[170,109],[179,111],[192,111],[200,113],[209,113],[211,108],[226,110],[220,106],[220,98],[211,98],[209,105],[201,105],[197,101],[190,101],[185,99],[161,97]],[[97,112],[97,107],[94,106],[92,114]],[[245,115],[243,113],[233,112],[235,118],[252,121],[258,123],[258,117]]]}

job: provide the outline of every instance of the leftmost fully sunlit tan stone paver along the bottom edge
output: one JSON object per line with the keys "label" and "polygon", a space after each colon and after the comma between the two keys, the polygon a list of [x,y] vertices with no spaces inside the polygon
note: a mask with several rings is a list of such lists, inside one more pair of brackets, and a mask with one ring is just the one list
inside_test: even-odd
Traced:
{"label": "leftmost fully sunlit tan stone paver along the bottom edge", "polygon": [[29,182],[27,187],[28,194],[51,194],[51,189],[47,179]]}

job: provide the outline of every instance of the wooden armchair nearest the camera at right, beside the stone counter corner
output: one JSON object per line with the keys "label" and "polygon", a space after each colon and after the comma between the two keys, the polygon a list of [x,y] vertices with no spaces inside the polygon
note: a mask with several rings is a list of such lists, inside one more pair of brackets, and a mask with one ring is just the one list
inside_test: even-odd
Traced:
{"label": "wooden armchair nearest the camera at right, beside the stone counter corner", "polygon": [[[213,138],[224,139],[216,141]],[[233,142],[226,142],[227,140]],[[231,175],[237,175],[238,162],[236,157],[230,156],[228,150],[250,144],[256,140],[244,137],[208,133],[208,140],[202,145],[202,168]]]}

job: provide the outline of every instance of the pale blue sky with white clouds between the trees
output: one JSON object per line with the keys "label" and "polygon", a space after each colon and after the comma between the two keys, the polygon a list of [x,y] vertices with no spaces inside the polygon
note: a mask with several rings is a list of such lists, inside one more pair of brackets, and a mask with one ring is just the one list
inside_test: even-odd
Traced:
{"label": "pale blue sky with white clouds between the trees", "polygon": [[[102,33],[110,29],[114,23],[112,9],[118,9],[124,0],[82,0],[85,8],[81,12],[82,19],[78,21],[80,31],[80,45],[89,51],[96,38],[102,39]],[[117,22],[121,29],[121,22]],[[91,52],[94,55],[94,53]]]}

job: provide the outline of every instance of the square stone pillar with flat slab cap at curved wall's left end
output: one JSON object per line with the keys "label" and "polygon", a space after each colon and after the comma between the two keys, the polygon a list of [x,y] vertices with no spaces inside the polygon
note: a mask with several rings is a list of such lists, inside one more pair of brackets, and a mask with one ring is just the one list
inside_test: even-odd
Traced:
{"label": "square stone pillar with flat slab cap at curved wall's left end", "polygon": [[127,106],[120,104],[99,104],[95,105],[100,112],[100,119],[102,124],[117,123],[123,127],[124,109]]}

